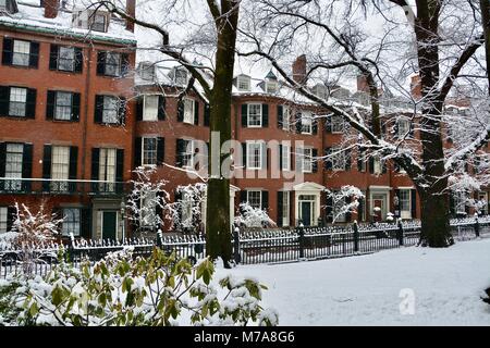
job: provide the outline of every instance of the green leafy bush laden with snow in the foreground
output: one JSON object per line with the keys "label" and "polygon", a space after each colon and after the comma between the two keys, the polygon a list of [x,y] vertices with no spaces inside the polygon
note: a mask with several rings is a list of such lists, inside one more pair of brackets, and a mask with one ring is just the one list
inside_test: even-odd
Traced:
{"label": "green leafy bush laden with snow in the foreground", "polygon": [[[10,307],[21,306],[9,325],[275,325],[260,307],[266,289],[254,279],[212,279],[209,259],[192,266],[155,248],[149,258],[133,249],[114,252],[81,269],[61,261],[45,278],[20,277]],[[8,283],[0,283],[0,291]],[[11,311],[4,310],[4,313]],[[1,313],[0,313],[1,315]],[[7,315],[4,315],[7,316]],[[10,318],[10,321],[8,319]]]}

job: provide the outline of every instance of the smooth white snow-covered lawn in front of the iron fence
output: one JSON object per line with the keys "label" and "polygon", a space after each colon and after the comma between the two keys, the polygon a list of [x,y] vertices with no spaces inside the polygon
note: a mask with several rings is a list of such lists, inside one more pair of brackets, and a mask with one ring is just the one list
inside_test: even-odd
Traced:
{"label": "smooth white snow-covered lawn in front of the iron fence", "polygon": [[262,304],[278,310],[280,325],[490,325],[480,300],[490,286],[490,239],[232,272],[269,287]]}

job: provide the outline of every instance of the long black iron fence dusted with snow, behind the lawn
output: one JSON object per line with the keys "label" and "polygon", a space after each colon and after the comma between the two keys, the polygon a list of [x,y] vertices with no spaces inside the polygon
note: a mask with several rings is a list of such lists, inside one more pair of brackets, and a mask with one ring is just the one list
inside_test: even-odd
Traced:
{"label": "long black iron fence dusted with snow, behind the lawn", "polygon": [[[454,238],[467,240],[490,234],[490,216],[452,219]],[[420,236],[419,221],[399,223],[330,225],[273,229],[235,229],[233,233],[233,259],[236,263],[275,263],[363,254],[401,246],[417,245]],[[78,266],[83,260],[96,262],[108,252],[132,247],[136,256],[148,256],[155,247],[167,253],[175,252],[192,262],[206,256],[206,237],[203,235],[164,235],[156,238],[124,240],[75,239],[62,244],[45,243],[29,246],[35,260],[33,272],[47,274],[58,263],[60,251],[66,260]],[[0,277],[23,270],[22,251],[0,247]]]}

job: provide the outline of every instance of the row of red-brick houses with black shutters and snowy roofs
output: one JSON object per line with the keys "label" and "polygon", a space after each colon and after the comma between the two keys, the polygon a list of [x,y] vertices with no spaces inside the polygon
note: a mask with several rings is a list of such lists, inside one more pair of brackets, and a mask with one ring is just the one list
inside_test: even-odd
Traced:
{"label": "row of red-brick houses with black shutters and snowy roofs", "polygon": [[[145,227],[144,221],[124,223],[122,215],[138,166],[152,166],[152,178],[167,181],[170,199],[182,202],[181,222],[204,228],[205,207],[195,221],[196,202],[179,190],[200,183],[187,175],[189,170],[207,170],[209,105],[199,86],[184,94],[189,79],[184,69],[160,66],[139,51],[136,57],[131,23],[56,0],[33,2],[0,2],[0,11],[9,13],[0,15],[0,233],[12,224],[14,202],[37,207],[44,201],[64,217],[63,235],[128,236]],[[127,11],[135,11],[134,1],[127,1]],[[305,82],[306,58],[299,57],[292,71]],[[326,111],[281,84],[272,71],[264,75],[234,79],[232,219],[243,201],[267,210],[279,226],[326,224],[333,216],[336,223],[384,221],[390,212],[420,216],[418,195],[404,173],[392,163],[365,161],[356,149],[341,151],[348,133],[342,120],[317,117]],[[354,94],[340,86],[311,90],[362,109],[366,88],[359,77]],[[385,115],[384,121],[390,136],[418,136],[416,120],[399,117],[392,124]],[[331,157],[315,160],[323,154]],[[356,213],[339,215],[348,198],[333,201],[324,191],[345,185],[358,187],[365,199]],[[485,191],[471,195],[488,201]],[[453,213],[471,212],[464,197],[452,199],[451,207]],[[155,208],[155,213],[161,212]],[[182,228],[170,221],[163,226]]]}

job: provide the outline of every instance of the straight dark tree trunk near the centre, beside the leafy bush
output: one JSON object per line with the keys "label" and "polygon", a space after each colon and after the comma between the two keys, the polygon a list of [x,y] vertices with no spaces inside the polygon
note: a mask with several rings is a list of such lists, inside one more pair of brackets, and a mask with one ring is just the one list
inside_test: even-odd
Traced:
{"label": "straight dark tree trunk near the centre, beside the leafy bush", "polygon": [[[226,4],[226,8],[224,8]],[[222,1],[222,13],[216,17],[218,51],[215,84],[210,98],[210,156],[209,181],[206,202],[206,249],[211,259],[221,257],[225,268],[232,256],[230,221],[230,173],[221,164],[230,156],[221,154],[223,142],[231,140],[231,103],[233,67],[235,62],[238,5],[234,0]],[[219,134],[219,145],[212,135]],[[219,162],[218,162],[219,161]],[[218,162],[218,163],[217,163]]]}

